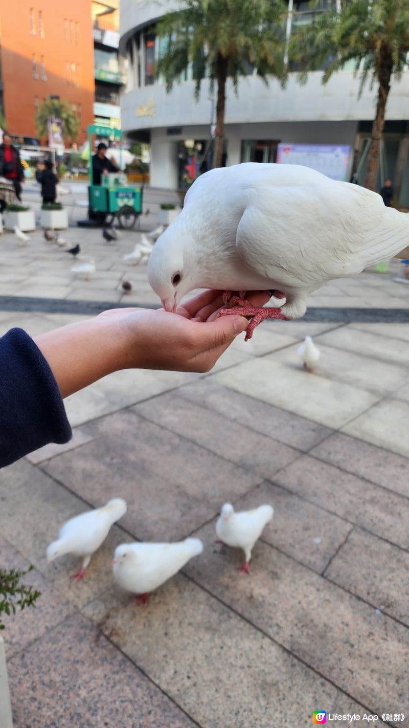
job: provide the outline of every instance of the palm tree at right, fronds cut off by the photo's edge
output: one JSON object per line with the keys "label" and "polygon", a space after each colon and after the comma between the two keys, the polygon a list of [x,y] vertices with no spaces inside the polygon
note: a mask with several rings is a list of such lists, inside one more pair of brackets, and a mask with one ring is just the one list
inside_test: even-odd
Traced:
{"label": "palm tree at right, fronds cut off by the photo's edge", "polygon": [[[315,4],[319,7],[319,1]],[[309,70],[326,63],[322,77],[326,83],[352,60],[355,72],[361,74],[360,94],[368,78],[371,86],[376,84],[376,114],[365,176],[365,187],[374,190],[391,80],[400,79],[409,52],[409,1],[338,0],[332,6],[315,23],[293,33],[289,55],[304,66],[301,80]]]}

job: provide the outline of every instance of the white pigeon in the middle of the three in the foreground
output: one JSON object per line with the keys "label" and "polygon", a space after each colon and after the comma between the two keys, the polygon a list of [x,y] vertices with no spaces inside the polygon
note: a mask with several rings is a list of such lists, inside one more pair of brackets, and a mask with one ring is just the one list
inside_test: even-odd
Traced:
{"label": "white pigeon in the middle of the three in the foreground", "polygon": [[176,543],[121,544],[112,563],[114,578],[122,589],[137,594],[138,602],[147,604],[151,591],[202,551],[202,541],[191,538]]}

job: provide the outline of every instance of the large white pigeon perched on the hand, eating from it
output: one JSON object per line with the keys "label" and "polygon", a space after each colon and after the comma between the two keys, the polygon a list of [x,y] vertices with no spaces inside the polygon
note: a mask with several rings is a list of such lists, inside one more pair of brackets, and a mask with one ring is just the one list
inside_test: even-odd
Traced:
{"label": "large white pigeon perched on the hand, eating from it", "polygon": [[303,316],[313,290],[396,256],[408,240],[409,215],[376,192],[309,167],[248,162],[196,179],[152,250],[148,279],[167,311],[196,288],[273,291],[279,308],[235,296],[221,312],[253,317],[250,339],[264,318]]}

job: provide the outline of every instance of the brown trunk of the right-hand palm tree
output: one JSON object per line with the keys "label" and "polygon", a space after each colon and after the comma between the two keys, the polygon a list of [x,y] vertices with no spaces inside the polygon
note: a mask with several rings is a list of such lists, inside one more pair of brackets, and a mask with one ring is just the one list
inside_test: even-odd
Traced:
{"label": "brown trunk of the right-hand palm tree", "polygon": [[378,63],[378,103],[376,104],[376,116],[372,124],[371,141],[368,151],[368,164],[364,183],[365,187],[372,190],[376,190],[381,139],[384,135],[386,102],[388,100],[389,91],[391,90],[390,80],[392,76],[393,62],[389,49],[381,50]]}

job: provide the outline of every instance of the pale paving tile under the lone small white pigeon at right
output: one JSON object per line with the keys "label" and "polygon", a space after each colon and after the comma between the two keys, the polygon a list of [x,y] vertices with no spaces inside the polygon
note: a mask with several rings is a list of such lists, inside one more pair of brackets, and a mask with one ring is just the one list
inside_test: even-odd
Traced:
{"label": "pale paving tile under the lone small white pigeon at right", "polygon": [[[287,347],[279,352],[269,355],[274,361],[279,361],[287,367],[298,371],[302,369],[297,344]],[[393,392],[409,379],[408,366],[386,363],[365,357],[353,352],[344,352],[334,347],[319,344],[321,357],[314,367],[314,375],[335,379],[352,384],[360,389],[368,389],[376,394],[385,395]]]}

